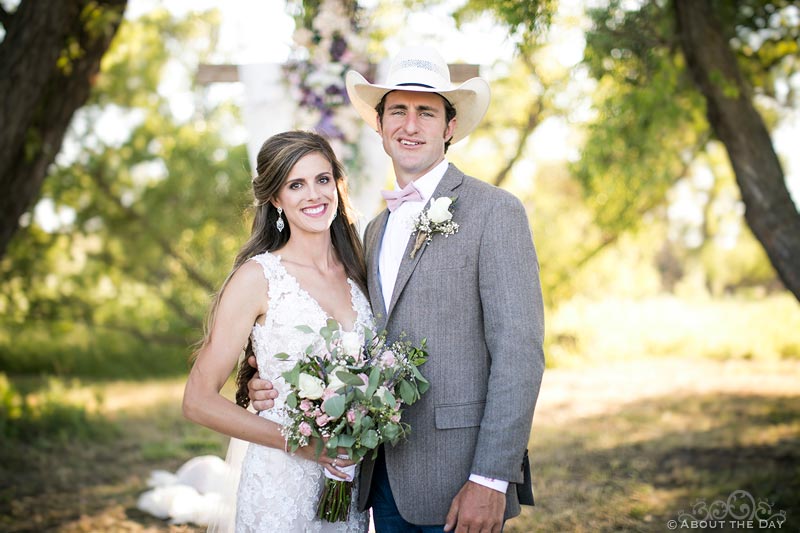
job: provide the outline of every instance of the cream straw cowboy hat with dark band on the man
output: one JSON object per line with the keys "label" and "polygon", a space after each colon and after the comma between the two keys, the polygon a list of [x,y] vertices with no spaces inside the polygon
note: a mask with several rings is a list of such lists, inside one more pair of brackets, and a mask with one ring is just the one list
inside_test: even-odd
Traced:
{"label": "cream straw cowboy hat with dark band on the man", "polygon": [[451,143],[466,137],[475,129],[489,107],[489,84],[472,78],[458,87],[450,83],[450,69],[436,50],[425,46],[402,50],[389,67],[384,84],[369,83],[351,70],[345,79],[347,95],[361,118],[377,130],[375,106],[390,91],[437,93],[456,108],[456,129]]}

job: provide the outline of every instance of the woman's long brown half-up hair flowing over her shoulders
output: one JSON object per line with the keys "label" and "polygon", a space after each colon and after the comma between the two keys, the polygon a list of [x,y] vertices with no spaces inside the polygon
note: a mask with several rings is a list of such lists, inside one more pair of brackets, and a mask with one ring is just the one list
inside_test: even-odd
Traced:
{"label": "woman's long brown half-up hair flowing over her shoulders", "polygon": [[[211,331],[216,318],[217,307],[225,287],[228,285],[234,272],[245,261],[264,252],[271,252],[283,247],[289,240],[291,229],[288,224],[282,232],[278,231],[275,222],[278,220],[278,211],[271,200],[278,195],[281,186],[294,165],[303,157],[311,153],[322,155],[333,168],[333,178],[339,196],[339,206],[336,218],[331,224],[331,242],[339,260],[344,266],[345,273],[358,286],[367,293],[367,269],[364,262],[364,249],[358,237],[358,231],[353,221],[352,210],[347,197],[347,182],[344,168],[336,158],[328,141],[316,133],[308,131],[287,131],[278,133],[267,139],[261,146],[256,158],[256,177],[253,178],[254,217],[250,238],[236,254],[233,268],[222,284],[219,292],[214,296],[211,310],[206,319],[203,339],[198,343],[192,354],[192,360],[198,352],[207,346],[211,340]],[[252,340],[247,340],[244,350],[244,359],[239,363],[236,374],[236,403],[242,407],[250,404],[247,383],[255,375],[256,369],[247,363],[247,359],[254,355]]]}

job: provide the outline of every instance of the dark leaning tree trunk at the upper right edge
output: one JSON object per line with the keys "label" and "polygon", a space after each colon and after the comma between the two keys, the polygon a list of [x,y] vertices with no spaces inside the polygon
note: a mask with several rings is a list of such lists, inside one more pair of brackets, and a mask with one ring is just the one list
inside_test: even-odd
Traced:
{"label": "dark leaning tree trunk at the upper right edge", "polygon": [[800,214],[736,57],[709,0],[674,0],[681,48],[728,151],[745,219],[783,284],[800,300]]}

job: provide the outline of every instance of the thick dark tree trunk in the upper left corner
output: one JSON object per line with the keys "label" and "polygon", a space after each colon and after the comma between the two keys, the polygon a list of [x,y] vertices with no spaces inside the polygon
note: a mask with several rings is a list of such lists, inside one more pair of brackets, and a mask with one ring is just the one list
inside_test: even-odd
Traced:
{"label": "thick dark tree trunk in the upper left corner", "polygon": [[22,0],[0,43],[0,257],[89,97],[127,0]]}

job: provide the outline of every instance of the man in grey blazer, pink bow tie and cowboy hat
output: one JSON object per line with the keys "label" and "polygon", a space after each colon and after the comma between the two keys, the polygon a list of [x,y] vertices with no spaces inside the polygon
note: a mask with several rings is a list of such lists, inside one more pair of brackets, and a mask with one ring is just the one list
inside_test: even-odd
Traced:
{"label": "man in grey blazer, pink bow tie and cowboy hat", "polygon": [[[500,531],[520,503],[533,503],[526,447],[544,324],[522,203],[445,159],[483,118],[489,86],[473,78],[453,87],[439,54],[415,47],[395,58],[384,84],[348,72],[347,92],[381,135],[397,180],[365,233],[372,309],[390,339],[427,338],[431,384],[403,414],[409,439],[364,461],[359,506],[372,506],[378,532]],[[443,197],[454,199],[458,229],[433,231],[425,244],[411,220]],[[263,389],[259,381],[251,389]]]}

